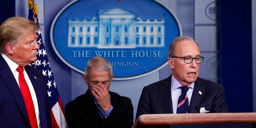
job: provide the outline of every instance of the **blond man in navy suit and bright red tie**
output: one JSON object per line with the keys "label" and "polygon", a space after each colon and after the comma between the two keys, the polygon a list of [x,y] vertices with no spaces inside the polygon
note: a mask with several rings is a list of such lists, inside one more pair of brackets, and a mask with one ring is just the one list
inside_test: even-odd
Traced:
{"label": "blond man in navy suit and bright red tie", "polygon": [[1,127],[52,127],[45,78],[28,66],[37,59],[37,30],[38,24],[22,17],[9,18],[0,26]]}

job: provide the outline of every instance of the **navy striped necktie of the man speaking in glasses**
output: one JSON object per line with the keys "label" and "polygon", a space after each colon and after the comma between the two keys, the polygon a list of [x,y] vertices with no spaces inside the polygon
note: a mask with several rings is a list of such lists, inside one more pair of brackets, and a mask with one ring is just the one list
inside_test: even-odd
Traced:
{"label": "navy striped necktie of the man speaking in glasses", "polygon": [[188,92],[189,86],[182,86],[181,88],[181,94],[178,99],[178,106],[177,106],[177,113],[188,113],[187,107],[188,107],[188,96],[186,93]]}

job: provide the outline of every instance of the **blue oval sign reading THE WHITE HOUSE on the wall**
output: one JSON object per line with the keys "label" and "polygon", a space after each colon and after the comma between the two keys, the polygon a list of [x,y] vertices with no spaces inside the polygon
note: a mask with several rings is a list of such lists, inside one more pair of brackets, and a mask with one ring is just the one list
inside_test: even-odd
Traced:
{"label": "blue oval sign reading THE WHITE HOUSE on the wall", "polygon": [[55,17],[51,42],[58,57],[84,73],[102,56],[114,80],[146,76],[167,64],[170,42],[182,34],[176,17],[151,0],[73,0]]}

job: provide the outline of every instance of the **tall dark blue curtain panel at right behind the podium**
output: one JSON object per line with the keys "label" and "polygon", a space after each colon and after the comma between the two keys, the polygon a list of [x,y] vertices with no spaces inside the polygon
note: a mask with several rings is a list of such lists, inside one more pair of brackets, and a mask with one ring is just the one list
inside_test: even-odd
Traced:
{"label": "tall dark blue curtain panel at right behind the podium", "polygon": [[230,112],[253,112],[252,1],[220,0],[220,82]]}

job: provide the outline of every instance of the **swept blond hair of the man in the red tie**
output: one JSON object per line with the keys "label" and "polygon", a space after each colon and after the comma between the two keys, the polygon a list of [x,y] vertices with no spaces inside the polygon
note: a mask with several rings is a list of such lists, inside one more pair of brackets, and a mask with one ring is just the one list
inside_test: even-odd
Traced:
{"label": "swept blond hair of the man in the red tie", "polygon": [[39,25],[26,18],[8,18],[0,26],[0,52],[5,51],[5,45],[7,43],[13,43],[19,36],[26,33],[26,31],[36,32],[38,30],[40,30]]}

